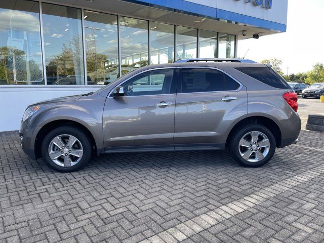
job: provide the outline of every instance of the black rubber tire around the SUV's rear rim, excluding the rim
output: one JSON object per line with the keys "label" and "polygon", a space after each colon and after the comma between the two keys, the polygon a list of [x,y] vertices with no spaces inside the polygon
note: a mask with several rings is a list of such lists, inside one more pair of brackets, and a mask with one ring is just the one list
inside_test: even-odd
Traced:
{"label": "black rubber tire around the SUV's rear rim, excluding the rim", "polygon": [[[266,135],[270,142],[270,148],[268,154],[260,161],[257,162],[250,162],[245,160],[241,157],[239,153],[239,141],[242,137],[244,137],[247,133],[258,131]],[[272,134],[272,132],[267,129],[266,127],[262,125],[257,124],[251,124],[251,125],[245,125],[244,127],[240,127],[239,129],[236,129],[233,133],[232,137],[229,141],[229,151],[232,155],[232,157],[241,165],[245,167],[261,167],[269,162],[269,160],[272,158],[276,148],[276,141]]]}

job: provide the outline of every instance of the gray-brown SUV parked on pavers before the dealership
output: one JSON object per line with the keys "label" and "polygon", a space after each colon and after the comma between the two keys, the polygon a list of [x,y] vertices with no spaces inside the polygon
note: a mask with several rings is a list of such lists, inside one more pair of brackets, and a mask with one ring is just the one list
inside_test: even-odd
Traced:
{"label": "gray-brown SUV parked on pavers before the dealership", "polygon": [[91,155],[222,150],[266,164],[297,141],[297,95],[264,64],[179,62],[134,70],[95,93],[27,107],[21,145],[31,159],[76,171]]}

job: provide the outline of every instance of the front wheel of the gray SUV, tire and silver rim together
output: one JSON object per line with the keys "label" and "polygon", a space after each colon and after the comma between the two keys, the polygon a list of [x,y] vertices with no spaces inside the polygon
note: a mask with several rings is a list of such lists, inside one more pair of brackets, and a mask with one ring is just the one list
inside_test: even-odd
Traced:
{"label": "front wheel of the gray SUV, tire and silver rim together", "polygon": [[42,156],[54,170],[77,171],[90,160],[91,143],[80,129],[69,126],[56,128],[44,138]]}

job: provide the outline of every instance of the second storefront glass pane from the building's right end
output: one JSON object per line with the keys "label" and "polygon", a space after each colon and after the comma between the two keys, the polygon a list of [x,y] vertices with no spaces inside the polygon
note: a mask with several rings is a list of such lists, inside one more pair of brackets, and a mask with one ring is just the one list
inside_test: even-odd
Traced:
{"label": "second storefront glass pane from the building's right end", "polygon": [[217,58],[217,32],[199,31],[199,58]]}

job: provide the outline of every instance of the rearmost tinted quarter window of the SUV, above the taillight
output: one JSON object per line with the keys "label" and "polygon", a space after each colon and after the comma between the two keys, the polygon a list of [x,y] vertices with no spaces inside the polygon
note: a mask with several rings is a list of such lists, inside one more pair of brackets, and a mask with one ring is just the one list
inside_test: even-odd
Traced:
{"label": "rearmost tinted quarter window of the SUV, above the taillight", "polygon": [[269,67],[237,67],[236,70],[274,88],[291,89],[285,79]]}

